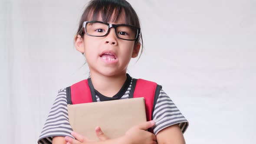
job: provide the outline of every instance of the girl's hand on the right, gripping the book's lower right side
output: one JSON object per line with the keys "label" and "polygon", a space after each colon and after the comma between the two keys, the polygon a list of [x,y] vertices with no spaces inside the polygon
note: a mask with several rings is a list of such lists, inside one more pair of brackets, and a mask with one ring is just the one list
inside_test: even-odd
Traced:
{"label": "girl's hand on the right, gripping the book's lower right side", "polygon": [[125,141],[130,144],[157,144],[157,137],[147,129],[154,126],[154,121],[147,121],[129,129]]}

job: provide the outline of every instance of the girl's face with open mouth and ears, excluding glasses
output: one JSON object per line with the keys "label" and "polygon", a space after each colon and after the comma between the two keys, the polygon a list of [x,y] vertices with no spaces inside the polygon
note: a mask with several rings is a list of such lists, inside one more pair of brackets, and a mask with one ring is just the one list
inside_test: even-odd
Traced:
{"label": "girl's face with open mouth and ears, excluding glasses", "polygon": [[[99,18],[98,21],[102,21]],[[120,16],[112,24],[124,24],[125,17]],[[105,76],[117,76],[125,74],[131,58],[138,56],[140,43],[118,39],[115,29],[111,28],[108,35],[94,37],[84,35],[75,37],[75,47],[79,52],[84,52],[91,74],[98,73]]]}

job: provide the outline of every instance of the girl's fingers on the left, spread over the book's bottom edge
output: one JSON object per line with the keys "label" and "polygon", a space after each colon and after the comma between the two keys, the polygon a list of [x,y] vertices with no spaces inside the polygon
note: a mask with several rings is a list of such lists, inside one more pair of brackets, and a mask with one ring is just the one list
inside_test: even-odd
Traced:
{"label": "girl's fingers on the left, spread over the book's bottom edge", "polygon": [[[95,128],[95,132],[96,135],[99,139],[99,141],[105,141],[108,140],[109,138],[103,133],[103,131],[101,130],[100,127]],[[65,141],[67,142],[67,144],[81,144],[81,143],[85,143],[86,142],[92,142],[92,140],[89,140],[88,138],[84,137],[81,134],[78,134],[74,131],[71,132],[72,136],[75,137],[75,139],[73,139],[72,137],[65,137]]]}

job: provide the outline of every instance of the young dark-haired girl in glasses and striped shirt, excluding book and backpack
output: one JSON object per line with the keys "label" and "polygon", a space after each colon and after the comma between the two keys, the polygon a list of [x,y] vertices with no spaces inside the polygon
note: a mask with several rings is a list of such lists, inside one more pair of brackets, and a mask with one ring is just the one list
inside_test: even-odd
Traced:
{"label": "young dark-haired girl in glasses and striped shirt, excluding book and backpack", "polygon": [[[91,0],[82,14],[75,48],[90,69],[97,101],[128,98],[133,78],[126,73],[131,58],[143,49],[140,23],[125,0]],[[142,46],[141,46],[142,45]],[[141,50],[142,51],[142,50]],[[98,127],[100,141],[90,141],[72,131],[67,111],[66,88],[60,89],[39,137],[39,144],[185,144],[188,121],[161,89],[153,121],[137,125],[122,137],[108,139]],[[154,134],[146,131],[153,128]]]}

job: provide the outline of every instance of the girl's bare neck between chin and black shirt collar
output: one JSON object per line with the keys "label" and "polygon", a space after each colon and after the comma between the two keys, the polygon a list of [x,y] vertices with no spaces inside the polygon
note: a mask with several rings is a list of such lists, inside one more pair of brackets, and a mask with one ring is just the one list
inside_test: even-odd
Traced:
{"label": "girl's bare neck between chin and black shirt collar", "polygon": [[93,87],[102,95],[112,97],[121,89],[127,79],[126,72],[114,76],[91,73]]}

